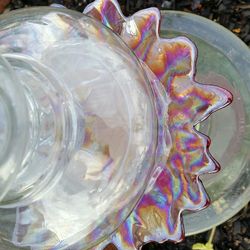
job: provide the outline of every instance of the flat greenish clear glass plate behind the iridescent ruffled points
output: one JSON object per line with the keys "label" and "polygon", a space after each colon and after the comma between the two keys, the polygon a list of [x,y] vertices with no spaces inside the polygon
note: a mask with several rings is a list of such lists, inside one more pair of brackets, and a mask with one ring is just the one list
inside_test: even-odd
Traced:
{"label": "flat greenish clear glass plate behind the iridescent ruffled points", "polygon": [[233,103],[200,124],[212,141],[210,151],[221,171],[202,176],[211,205],[185,213],[186,235],[196,234],[228,220],[250,200],[250,49],[224,27],[184,12],[162,12],[161,36],[184,35],[197,46],[196,79],[228,89]]}

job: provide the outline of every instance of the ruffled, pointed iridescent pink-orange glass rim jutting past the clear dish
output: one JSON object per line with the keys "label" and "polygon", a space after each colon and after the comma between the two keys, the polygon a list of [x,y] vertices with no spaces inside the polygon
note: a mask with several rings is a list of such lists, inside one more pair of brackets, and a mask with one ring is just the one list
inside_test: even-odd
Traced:
{"label": "ruffled, pointed iridescent pink-orange glass rim jutting past the clear dish", "polygon": [[[96,0],[84,12],[120,35],[170,97],[167,123],[172,147],[167,163],[130,217],[96,249],[109,242],[118,249],[132,250],[150,241],[180,241],[184,235],[182,211],[199,210],[209,204],[199,175],[219,169],[208,150],[209,138],[194,126],[227,106],[232,95],[195,81],[196,47],[185,37],[160,38],[158,9],[124,17],[116,1]],[[150,70],[146,72],[151,74]]]}

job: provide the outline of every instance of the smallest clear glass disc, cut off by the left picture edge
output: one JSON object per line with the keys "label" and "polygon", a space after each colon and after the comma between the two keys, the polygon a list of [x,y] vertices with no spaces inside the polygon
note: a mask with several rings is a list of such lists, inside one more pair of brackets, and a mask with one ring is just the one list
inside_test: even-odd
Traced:
{"label": "smallest clear glass disc, cut off by the left picture edge", "polygon": [[20,170],[22,145],[27,140],[26,100],[20,90],[10,64],[0,56],[0,202]]}

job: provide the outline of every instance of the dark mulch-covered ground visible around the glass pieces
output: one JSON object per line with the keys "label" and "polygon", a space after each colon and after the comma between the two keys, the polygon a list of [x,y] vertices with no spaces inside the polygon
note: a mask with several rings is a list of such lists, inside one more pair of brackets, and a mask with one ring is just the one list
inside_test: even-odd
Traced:
{"label": "dark mulch-covered ground visible around the glass pieces", "polygon": [[[0,0],[0,13],[27,6],[49,5],[60,3],[66,7],[82,11],[89,0]],[[160,9],[175,9],[196,13],[216,21],[239,36],[250,46],[250,0],[121,0],[120,4],[125,14],[156,6]],[[6,10],[7,9],[7,10]],[[195,243],[205,244],[211,232],[187,237],[179,244],[151,243],[143,250],[190,250]],[[214,250],[250,250],[250,206],[215,229],[212,237]],[[196,250],[211,248],[195,248]]]}

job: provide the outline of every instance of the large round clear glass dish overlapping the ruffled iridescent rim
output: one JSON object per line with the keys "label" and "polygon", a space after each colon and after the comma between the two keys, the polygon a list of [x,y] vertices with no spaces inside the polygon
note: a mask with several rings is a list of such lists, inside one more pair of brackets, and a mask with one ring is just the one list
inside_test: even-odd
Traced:
{"label": "large round clear glass dish overlapping the ruffled iridescent rim", "polygon": [[149,81],[118,36],[66,9],[1,16],[0,53],[27,110],[21,162],[0,202],[1,239],[89,248],[125,220],[154,167]]}

